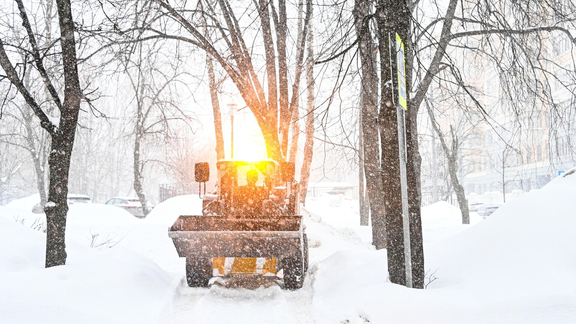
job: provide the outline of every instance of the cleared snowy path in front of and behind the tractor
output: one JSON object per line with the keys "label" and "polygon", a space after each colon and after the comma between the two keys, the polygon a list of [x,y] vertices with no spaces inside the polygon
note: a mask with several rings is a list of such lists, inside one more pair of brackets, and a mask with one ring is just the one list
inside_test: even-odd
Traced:
{"label": "cleared snowy path in front of and behind the tractor", "polygon": [[310,267],[298,291],[285,291],[276,282],[255,290],[212,285],[190,288],[184,279],[177,289],[166,323],[317,323],[312,309],[315,264],[338,250],[366,247],[354,232],[337,229],[302,210],[310,244]]}

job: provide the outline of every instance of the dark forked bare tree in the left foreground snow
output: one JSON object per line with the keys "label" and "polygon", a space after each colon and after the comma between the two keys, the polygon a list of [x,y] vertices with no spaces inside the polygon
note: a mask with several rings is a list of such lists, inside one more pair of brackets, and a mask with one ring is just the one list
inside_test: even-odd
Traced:
{"label": "dark forked bare tree in the left foreground snow", "polygon": [[[43,127],[52,139],[50,156],[48,157],[49,183],[48,202],[46,204],[47,235],[46,235],[46,267],[64,265],[66,263],[66,214],[68,212],[67,193],[68,175],[70,169],[70,157],[74,145],[74,134],[76,130],[78,112],[80,104],[85,95],[80,86],[78,77],[78,62],[76,56],[76,39],[74,35],[74,19],[70,1],[56,0],[59,19],[59,43],[61,47],[61,61],[59,62],[64,78],[63,100],[60,99],[58,91],[52,80],[55,76],[49,76],[44,67],[46,52],[49,48],[39,48],[36,41],[37,35],[31,22],[28,20],[24,3],[17,0],[18,11],[22,25],[26,30],[26,51],[30,53],[33,65],[26,66],[35,68],[36,73],[42,78],[44,87],[51,95],[51,101],[58,108],[60,118],[49,116],[41,107],[42,101],[35,99],[33,89],[26,87],[21,79],[21,73],[12,62],[6,50],[14,48],[18,51],[20,44],[6,43],[6,35],[0,39],[0,65],[4,70],[6,78],[20,93],[26,104],[31,108],[39,119],[40,126]],[[13,22],[16,23],[16,22]],[[18,42],[20,43],[20,42]],[[17,63],[16,66],[25,65],[25,61]]]}

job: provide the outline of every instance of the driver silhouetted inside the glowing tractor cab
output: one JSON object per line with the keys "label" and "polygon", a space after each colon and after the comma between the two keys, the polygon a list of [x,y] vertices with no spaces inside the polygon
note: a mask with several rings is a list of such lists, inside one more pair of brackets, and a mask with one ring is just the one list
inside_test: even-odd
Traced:
{"label": "driver silhouetted inside the glowing tractor cab", "polygon": [[234,210],[237,214],[260,215],[262,202],[266,199],[266,190],[256,184],[258,171],[250,169],[246,172],[245,186],[238,187],[234,197]]}

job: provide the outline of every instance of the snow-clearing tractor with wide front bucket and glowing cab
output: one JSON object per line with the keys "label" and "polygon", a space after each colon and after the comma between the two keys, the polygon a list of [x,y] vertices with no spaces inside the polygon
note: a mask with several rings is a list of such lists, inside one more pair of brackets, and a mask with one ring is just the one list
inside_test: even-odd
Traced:
{"label": "snow-clearing tractor with wide front bucket and glowing cab", "polygon": [[204,183],[202,215],[178,217],[168,233],[186,258],[188,285],[208,287],[213,277],[255,275],[278,276],[284,288],[301,288],[308,240],[294,164],[220,160],[217,168],[217,186],[206,194],[209,164],[196,163],[196,182]]}

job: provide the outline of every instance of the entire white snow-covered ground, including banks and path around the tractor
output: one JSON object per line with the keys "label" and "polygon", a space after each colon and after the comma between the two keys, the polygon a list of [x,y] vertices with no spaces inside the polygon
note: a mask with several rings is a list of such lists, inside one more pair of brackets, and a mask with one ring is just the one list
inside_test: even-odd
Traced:
{"label": "entire white snow-covered ground, including banks and path around the tractor", "polygon": [[573,323],[574,198],[571,174],[486,220],[473,213],[471,225],[446,202],[426,206],[426,282],[436,279],[423,290],[387,281],[386,251],[358,225],[357,202],[309,198],[310,269],[299,291],[270,280],[255,290],[189,288],[167,231],[180,214],[199,213],[198,196],[169,199],[143,220],[72,205],[67,265],[51,269],[37,230],[43,214],[15,201],[0,207],[0,322]]}

